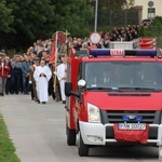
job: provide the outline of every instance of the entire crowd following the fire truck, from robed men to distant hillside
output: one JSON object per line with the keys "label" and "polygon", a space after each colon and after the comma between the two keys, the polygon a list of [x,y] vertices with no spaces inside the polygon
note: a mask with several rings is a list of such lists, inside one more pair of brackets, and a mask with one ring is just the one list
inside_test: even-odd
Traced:
{"label": "entire crowd following the fire truck, from robed men to distant hillside", "polygon": [[[109,48],[110,41],[132,41],[138,38],[140,27],[148,28],[147,25],[127,25],[126,28],[114,28],[111,32],[102,32],[102,41],[96,48]],[[57,70],[55,63],[50,62],[50,55],[54,45],[54,40],[37,40],[32,46],[28,48],[24,54],[15,54],[10,58],[4,50],[0,52],[0,95],[23,93],[28,95],[31,92],[31,99],[45,104],[49,95],[53,99],[66,102],[64,84],[66,81],[66,58],[67,48],[76,50],[87,49],[92,43],[89,38],[67,38],[67,42],[58,42]]]}

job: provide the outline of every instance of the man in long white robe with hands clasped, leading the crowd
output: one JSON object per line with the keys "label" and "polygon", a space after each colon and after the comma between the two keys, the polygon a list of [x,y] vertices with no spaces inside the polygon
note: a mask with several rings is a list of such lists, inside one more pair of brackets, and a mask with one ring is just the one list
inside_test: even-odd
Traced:
{"label": "man in long white robe with hands clasped, leading the crowd", "polygon": [[39,99],[38,103],[45,104],[49,100],[48,86],[51,77],[51,69],[48,66],[45,66],[45,60],[41,60],[40,66],[38,66],[33,72]]}

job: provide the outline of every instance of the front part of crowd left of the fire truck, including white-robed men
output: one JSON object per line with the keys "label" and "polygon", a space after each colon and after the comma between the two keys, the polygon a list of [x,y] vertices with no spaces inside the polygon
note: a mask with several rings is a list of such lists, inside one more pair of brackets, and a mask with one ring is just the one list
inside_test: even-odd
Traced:
{"label": "front part of crowd left of the fire truck, including white-robed men", "polygon": [[[31,51],[32,49],[32,51]],[[41,52],[30,46],[24,55],[10,58],[5,51],[0,53],[0,95],[31,94],[31,99],[46,104],[49,95],[63,104],[66,103],[64,84],[66,80],[66,57],[55,69],[54,62],[50,63],[50,50],[43,48]],[[55,83],[54,84],[54,80]],[[59,86],[60,85],[60,86]],[[54,91],[57,90],[57,91]],[[31,92],[31,93],[30,93]],[[54,93],[55,92],[55,93]]]}

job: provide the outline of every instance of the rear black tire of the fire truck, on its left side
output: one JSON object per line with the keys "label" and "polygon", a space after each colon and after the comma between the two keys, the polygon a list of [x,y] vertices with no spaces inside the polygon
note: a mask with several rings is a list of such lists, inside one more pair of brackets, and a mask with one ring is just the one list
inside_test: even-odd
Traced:
{"label": "rear black tire of the fire truck, on its left side", "polygon": [[76,145],[76,131],[70,130],[68,126],[66,126],[67,132],[67,145],[75,146]]}

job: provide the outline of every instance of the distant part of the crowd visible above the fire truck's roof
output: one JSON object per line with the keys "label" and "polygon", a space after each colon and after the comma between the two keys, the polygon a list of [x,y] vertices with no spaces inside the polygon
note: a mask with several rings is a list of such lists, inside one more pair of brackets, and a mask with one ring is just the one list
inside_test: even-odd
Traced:
{"label": "distant part of the crowd visible above the fire truck's roof", "polygon": [[[96,44],[98,49],[110,48],[111,41],[133,41],[139,38],[140,28],[149,28],[152,22],[140,25],[127,25],[126,27],[114,27],[112,31],[106,31],[105,33],[100,31],[102,41]],[[80,48],[86,49],[91,45],[89,38],[69,38],[68,42],[72,48],[79,50]]]}

